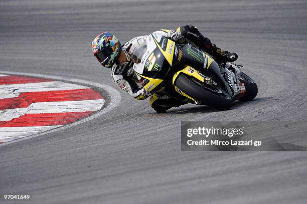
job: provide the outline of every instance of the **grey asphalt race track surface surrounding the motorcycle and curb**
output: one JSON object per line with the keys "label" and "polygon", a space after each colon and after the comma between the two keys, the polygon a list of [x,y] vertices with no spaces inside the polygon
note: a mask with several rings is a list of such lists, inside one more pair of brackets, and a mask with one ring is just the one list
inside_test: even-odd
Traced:
{"label": "grey asphalt race track surface surrounding the motorcycle and curb", "polygon": [[224,112],[186,105],[156,114],[120,93],[98,118],[0,146],[0,194],[30,192],[32,203],[306,203],[305,151],[180,149],[182,120],[306,119],[306,1],[5,0],[0,16],[4,71],[116,88],[92,56],[96,35],[108,30],[125,42],[194,24],[237,52],[259,87],[256,100]]}

